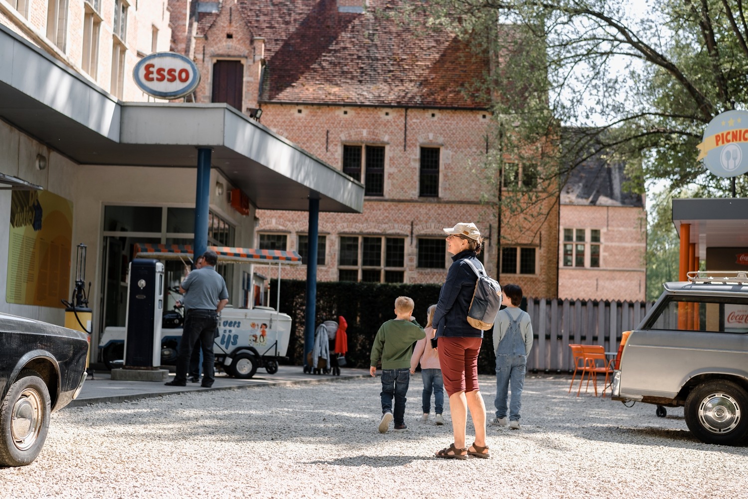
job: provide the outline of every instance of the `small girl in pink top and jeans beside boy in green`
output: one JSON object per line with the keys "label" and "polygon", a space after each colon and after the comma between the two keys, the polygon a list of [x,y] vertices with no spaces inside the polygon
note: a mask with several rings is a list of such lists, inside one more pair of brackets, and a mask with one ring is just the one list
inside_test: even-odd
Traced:
{"label": "small girl in pink top and jeans beside boy in green", "polygon": [[434,411],[436,413],[436,424],[444,424],[444,417],[441,411],[444,409],[444,379],[441,377],[441,367],[439,367],[439,354],[431,346],[431,339],[434,337],[434,310],[436,305],[429,307],[426,311],[426,327],[423,332],[426,337],[418,340],[413,349],[411,356],[411,374],[415,374],[418,363],[421,364],[421,379],[423,379],[423,417],[421,420],[429,420],[429,411],[431,410],[431,394],[434,394]]}

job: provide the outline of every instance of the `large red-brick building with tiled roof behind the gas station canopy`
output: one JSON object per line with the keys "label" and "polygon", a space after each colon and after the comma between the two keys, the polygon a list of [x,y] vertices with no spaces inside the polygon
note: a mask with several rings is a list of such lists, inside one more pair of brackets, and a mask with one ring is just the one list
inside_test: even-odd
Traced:
{"label": "large red-brick building with tiled roof behind the gas station canopy", "polygon": [[[197,102],[261,108],[263,125],[364,183],[363,214],[319,217],[320,281],[440,283],[450,263],[442,227],[475,221],[488,272],[530,296],[557,295],[557,200],[537,227],[502,231],[479,201],[492,121],[471,88],[487,58],[454,34],[402,24],[395,2],[170,4],[173,49],[203,74]],[[260,248],[305,256],[305,212],[260,209],[256,224]]]}

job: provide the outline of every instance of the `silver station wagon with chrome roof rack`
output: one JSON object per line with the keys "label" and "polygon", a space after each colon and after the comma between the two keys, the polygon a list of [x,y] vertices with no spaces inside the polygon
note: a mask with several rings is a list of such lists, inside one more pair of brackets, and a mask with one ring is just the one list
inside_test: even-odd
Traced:
{"label": "silver station wagon with chrome roof rack", "polygon": [[707,444],[748,439],[748,272],[689,272],[624,334],[613,399],[684,406]]}

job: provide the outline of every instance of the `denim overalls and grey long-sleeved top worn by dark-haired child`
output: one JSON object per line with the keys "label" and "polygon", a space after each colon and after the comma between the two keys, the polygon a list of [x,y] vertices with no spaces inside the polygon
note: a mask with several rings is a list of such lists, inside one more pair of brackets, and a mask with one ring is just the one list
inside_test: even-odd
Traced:
{"label": "denim overalls and grey long-sleeved top worn by dark-haired child", "polygon": [[524,312],[518,310],[517,319],[512,319],[512,313],[506,310],[509,316],[509,328],[501,338],[499,348],[496,351],[496,417],[506,417],[506,397],[509,383],[512,384],[512,401],[509,405],[509,420],[519,420],[519,409],[521,406],[522,385],[524,385],[524,373],[527,367],[527,355],[525,354],[524,339],[520,331],[519,321]]}

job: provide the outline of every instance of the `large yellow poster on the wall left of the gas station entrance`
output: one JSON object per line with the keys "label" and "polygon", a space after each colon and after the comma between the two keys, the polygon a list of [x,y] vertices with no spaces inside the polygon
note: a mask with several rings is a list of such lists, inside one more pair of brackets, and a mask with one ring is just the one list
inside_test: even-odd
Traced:
{"label": "large yellow poster on the wall left of the gas station entrance", "polygon": [[70,299],[73,203],[47,191],[13,191],[7,256],[8,303],[58,307]]}

